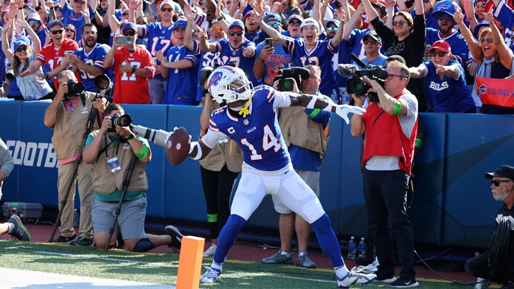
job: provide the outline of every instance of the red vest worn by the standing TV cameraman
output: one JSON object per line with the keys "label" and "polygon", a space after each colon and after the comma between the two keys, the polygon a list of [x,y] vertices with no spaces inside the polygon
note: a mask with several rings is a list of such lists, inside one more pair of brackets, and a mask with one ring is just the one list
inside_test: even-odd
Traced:
{"label": "red vest worn by the standing TV cameraman", "polygon": [[[401,95],[395,97],[399,99]],[[398,166],[411,175],[414,159],[414,141],[417,134],[417,119],[411,132],[411,138],[402,131],[399,115],[391,115],[382,110],[377,103],[369,103],[363,122],[366,128],[366,145],[363,154],[363,166],[374,155],[398,156]]]}

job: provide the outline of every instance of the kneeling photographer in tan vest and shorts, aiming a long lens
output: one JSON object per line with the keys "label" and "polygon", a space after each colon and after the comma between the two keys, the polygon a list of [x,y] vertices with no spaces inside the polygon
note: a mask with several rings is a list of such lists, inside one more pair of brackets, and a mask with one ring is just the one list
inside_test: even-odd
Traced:
{"label": "kneeling photographer in tan vest and shorts, aiming a long lens", "polygon": [[[126,189],[117,227],[110,239],[116,242],[122,234],[126,249],[134,252],[146,252],[167,244],[180,249],[182,234],[173,226],[166,227],[167,235],[145,234],[145,215],[147,208],[146,190],[148,188],[146,166],[151,160],[151,151],[145,138],[135,138],[129,127],[115,125],[112,118],[124,114],[118,104],[107,106],[105,118],[99,130],[89,134],[82,155],[84,162],[93,164],[93,227],[95,228],[95,246],[105,248],[108,242],[110,225],[114,223],[114,212]],[[130,166],[132,158],[137,160],[134,168]],[[130,172],[132,168],[132,172]],[[130,183],[124,188],[125,177],[130,175]]]}

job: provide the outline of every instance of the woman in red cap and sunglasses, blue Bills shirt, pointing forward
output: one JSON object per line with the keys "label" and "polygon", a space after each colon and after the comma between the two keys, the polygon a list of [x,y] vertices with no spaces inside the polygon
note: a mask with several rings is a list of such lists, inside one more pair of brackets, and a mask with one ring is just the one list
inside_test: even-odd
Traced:
{"label": "woman in red cap and sunglasses, blue Bills shirt, pointing forward", "polygon": [[452,49],[445,40],[437,40],[428,51],[430,60],[409,68],[413,78],[424,78],[426,99],[434,112],[476,113],[475,102],[466,86],[461,63],[452,59]]}

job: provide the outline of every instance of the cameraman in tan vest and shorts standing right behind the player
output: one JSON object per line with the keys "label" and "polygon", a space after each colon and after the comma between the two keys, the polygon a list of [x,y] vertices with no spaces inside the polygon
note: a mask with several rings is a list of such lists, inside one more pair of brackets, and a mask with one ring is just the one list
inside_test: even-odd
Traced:
{"label": "cameraman in tan vest and shorts standing right behind the player", "polygon": [[[305,68],[308,69],[310,75],[307,79],[302,79],[302,93],[319,95],[327,101],[330,100],[319,93],[319,84],[321,83],[321,69],[319,66],[307,65]],[[278,81],[275,82],[275,88],[277,87]],[[291,91],[299,92],[296,81]],[[319,172],[328,144],[329,120],[330,112],[292,106],[282,108],[278,121],[285,144],[288,146],[291,155],[293,168],[318,198]],[[298,256],[295,265],[304,268],[316,268],[316,264],[313,260],[310,260],[307,253],[310,224],[299,215],[295,217],[294,212],[274,196],[273,204],[275,210],[280,213],[280,251],[271,257],[260,260],[260,262],[265,264],[293,264],[291,240],[293,239],[293,230],[296,229]]]}

